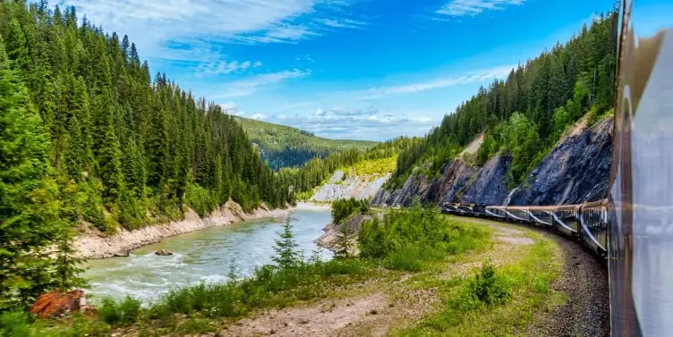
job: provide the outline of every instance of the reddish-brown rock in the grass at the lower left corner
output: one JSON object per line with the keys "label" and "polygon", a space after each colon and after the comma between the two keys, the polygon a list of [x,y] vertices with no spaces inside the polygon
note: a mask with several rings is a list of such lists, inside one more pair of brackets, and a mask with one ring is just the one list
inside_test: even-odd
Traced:
{"label": "reddish-brown rock in the grass at the lower left corner", "polygon": [[81,289],[70,292],[51,291],[40,296],[30,307],[30,313],[40,318],[62,316],[72,311],[86,311],[87,305],[84,291]]}

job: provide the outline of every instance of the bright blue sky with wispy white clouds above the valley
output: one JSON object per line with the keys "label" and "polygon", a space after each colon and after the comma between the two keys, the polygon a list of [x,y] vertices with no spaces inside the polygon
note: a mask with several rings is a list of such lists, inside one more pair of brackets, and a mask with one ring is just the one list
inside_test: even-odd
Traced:
{"label": "bright blue sky with wispy white clouds above the valley", "polygon": [[[673,13],[639,0],[643,27]],[[230,114],[333,139],[422,136],[613,0],[57,0]],[[640,6],[640,7],[638,7]],[[663,14],[662,14],[663,13]]]}

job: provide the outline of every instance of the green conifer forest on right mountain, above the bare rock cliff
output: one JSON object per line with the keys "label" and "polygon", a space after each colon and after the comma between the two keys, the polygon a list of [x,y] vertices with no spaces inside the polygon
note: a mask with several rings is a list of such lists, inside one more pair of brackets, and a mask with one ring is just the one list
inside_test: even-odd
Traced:
{"label": "green conifer forest on right mountain, above the bare rock cliff", "polygon": [[412,174],[441,175],[481,132],[484,140],[475,154],[476,164],[507,155],[511,158],[507,188],[523,182],[584,114],[589,114],[591,123],[610,113],[615,97],[616,13],[601,14],[565,45],[558,43],[519,64],[506,80],[481,87],[421,142],[400,153],[388,190],[401,188]]}

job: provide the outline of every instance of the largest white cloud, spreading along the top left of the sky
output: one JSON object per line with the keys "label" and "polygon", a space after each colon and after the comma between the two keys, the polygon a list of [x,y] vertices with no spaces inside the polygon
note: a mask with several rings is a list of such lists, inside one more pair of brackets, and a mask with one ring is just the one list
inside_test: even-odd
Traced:
{"label": "largest white cloud, spreading along the top left of the sky", "polygon": [[218,42],[294,42],[319,27],[294,22],[348,3],[326,0],[56,0],[106,32],[128,34],[142,58],[212,61]]}

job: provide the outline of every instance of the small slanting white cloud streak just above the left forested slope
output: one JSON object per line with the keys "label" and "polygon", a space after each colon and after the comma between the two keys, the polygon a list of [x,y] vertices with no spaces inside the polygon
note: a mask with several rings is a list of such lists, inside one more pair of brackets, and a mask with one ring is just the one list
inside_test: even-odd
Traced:
{"label": "small slanting white cloud streak just above the left forested slope", "polygon": [[284,72],[270,72],[255,75],[248,80],[237,80],[223,84],[224,92],[213,95],[216,98],[243,97],[254,94],[262,87],[272,86],[285,80],[301,79],[309,76],[311,71],[302,72],[298,69]]}

